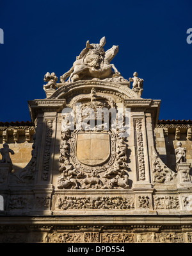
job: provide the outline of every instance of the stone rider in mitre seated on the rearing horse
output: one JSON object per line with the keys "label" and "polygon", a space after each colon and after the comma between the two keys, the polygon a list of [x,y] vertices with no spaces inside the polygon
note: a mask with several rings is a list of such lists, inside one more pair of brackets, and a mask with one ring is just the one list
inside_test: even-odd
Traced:
{"label": "stone rider in mitre seated on the rearing horse", "polygon": [[84,58],[84,63],[92,66],[92,71],[98,70],[100,62],[103,60],[105,53],[103,47],[106,44],[106,37],[100,39],[99,44],[90,44],[86,42],[86,47],[81,51],[80,55],[77,56],[77,60]]}

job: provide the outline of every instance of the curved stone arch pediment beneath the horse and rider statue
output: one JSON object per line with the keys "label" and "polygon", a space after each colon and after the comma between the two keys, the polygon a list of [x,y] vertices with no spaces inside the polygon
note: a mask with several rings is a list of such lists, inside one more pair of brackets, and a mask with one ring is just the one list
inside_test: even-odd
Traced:
{"label": "curved stone arch pediment beneath the horse and rider statue", "polygon": [[140,96],[134,91],[132,91],[127,85],[122,85],[120,83],[113,83],[109,81],[76,81],[74,83],[61,84],[61,87],[56,90],[49,99],[63,99],[71,92],[75,90],[81,92],[86,92],[86,89],[94,87],[95,89],[106,90],[106,92],[114,92],[114,94],[120,94],[123,99],[141,99]]}

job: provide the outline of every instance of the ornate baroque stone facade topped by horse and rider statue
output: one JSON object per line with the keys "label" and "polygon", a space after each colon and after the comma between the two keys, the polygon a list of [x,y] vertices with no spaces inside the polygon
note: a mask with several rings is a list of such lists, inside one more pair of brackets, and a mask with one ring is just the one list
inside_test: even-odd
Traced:
{"label": "ornate baroque stone facade topped by horse and rider statue", "polygon": [[0,123],[1,243],[192,243],[192,121],[159,121],[105,44]]}

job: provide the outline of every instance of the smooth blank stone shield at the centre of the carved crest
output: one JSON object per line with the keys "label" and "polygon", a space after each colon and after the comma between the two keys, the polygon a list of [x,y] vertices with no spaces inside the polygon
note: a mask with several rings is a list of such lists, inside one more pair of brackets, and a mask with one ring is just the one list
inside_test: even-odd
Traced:
{"label": "smooth blank stone shield at the centre of the carved crest", "polygon": [[110,156],[110,136],[108,133],[77,134],[77,158],[82,164],[99,166]]}

